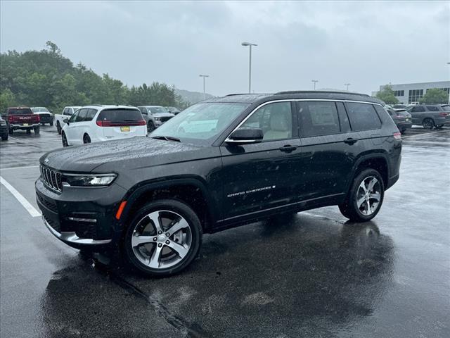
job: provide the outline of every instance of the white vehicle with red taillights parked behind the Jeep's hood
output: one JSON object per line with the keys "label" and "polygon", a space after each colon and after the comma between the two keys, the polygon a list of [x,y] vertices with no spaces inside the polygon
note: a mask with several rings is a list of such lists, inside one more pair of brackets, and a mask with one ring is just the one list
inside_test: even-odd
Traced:
{"label": "white vehicle with red taillights parked behind the Jeep's hood", "polygon": [[130,106],[84,106],[64,123],[63,146],[147,136],[141,111]]}

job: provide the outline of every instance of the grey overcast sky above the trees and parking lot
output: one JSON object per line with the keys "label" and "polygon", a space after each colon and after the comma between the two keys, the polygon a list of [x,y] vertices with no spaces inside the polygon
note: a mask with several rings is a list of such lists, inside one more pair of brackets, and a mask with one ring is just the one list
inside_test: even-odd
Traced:
{"label": "grey overcast sky above the trees and parking lot", "polygon": [[201,92],[350,89],[449,80],[449,1],[157,2],[1,0],[1,52],[44,49],[126,84]]}

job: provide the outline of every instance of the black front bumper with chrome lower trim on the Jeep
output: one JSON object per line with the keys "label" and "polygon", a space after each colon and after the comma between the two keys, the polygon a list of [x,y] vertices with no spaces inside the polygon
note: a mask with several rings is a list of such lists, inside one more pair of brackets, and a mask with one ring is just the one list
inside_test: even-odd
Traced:
{"label": "black front bumper with chrome lower trim on the Jeep", "polygon": [[59,194],[39,178],[35,189],[44,225],[65,244],[76,249],[105,248],[120,238],[121,226],[114,216],[125,191],[117,184],[64,187]]}

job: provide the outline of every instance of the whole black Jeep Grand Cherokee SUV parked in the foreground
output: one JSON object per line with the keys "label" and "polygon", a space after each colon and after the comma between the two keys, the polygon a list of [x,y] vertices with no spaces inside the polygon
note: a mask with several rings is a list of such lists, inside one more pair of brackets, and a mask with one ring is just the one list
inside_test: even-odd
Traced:
{"label": "whole black Jeep Grand Cherokee SUV parked in the foreground", "polygon": [[401,136],[363,94],[233,94],[195,104],[150,137],[40,159],[46,227],[78,249],[119,249],[148,275],[179,272],[202,234],[338,205],[363,222],[399,178]]}

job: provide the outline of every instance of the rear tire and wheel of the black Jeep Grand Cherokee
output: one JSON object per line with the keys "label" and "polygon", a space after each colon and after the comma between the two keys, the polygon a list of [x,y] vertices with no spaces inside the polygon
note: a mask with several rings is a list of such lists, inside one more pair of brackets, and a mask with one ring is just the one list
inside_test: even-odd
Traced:
{"label": "rear tire and wheel of the black Jeep Grand Cherokee", "polygon": [[[372,182],[372,189],[368,190],[368,185]],[[380,211],[384,196],[385,185],[380,173],[377,170],[365,169],[356,175],[344,203],[339,204],[339,210],[349,220],[367,222]]]}

